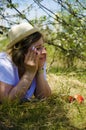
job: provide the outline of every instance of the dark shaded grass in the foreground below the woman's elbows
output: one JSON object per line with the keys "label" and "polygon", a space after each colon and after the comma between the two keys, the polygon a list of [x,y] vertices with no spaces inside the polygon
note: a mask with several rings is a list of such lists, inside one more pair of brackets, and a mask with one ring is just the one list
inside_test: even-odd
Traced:
{"label": "dark shaded grass in the foreground below the woman's elbows", "polygon": [[0,105],[0,130],[85,130],[71,125],[57,95],[46,100]]}

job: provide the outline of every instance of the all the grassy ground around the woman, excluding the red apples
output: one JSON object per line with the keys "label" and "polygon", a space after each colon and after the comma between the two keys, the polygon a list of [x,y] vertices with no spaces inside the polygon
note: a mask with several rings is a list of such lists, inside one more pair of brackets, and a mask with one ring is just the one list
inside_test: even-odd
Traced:
{"label": "all the grassy ground around the woman, excluding the red apples", "polygon": [[[81,80],[79,80],[81,77]],[[83,80],[82,80],[83,77]],[[86,78],[71,72],[48,74],[52,96],[23,104],[0,104],[0,130],[85,130]],[[68,95],[81,94],[84,102],[69,103]]]}

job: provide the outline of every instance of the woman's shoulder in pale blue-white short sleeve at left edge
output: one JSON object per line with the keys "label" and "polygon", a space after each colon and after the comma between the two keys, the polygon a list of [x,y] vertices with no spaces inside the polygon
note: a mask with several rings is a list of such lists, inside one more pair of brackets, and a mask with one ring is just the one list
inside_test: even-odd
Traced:
{"label": "woman's shoulder in pale blue-white short sleeve at left edge", "polygon": [[0,81],[15,86],[18,80],[17,67],[7,53],[0,53]]}

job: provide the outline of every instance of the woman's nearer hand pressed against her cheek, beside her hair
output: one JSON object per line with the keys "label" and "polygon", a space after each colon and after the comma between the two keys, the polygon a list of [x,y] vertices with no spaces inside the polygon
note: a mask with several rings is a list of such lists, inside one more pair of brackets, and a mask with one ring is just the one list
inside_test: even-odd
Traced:
{"label": "woman's nearer hand pressed against her cheek, beside her hair", "polygon": [[38,70],[39,53],[33,46],[28,49],[28,53],[25,55],[25,68],[30,72],[36,72]]}

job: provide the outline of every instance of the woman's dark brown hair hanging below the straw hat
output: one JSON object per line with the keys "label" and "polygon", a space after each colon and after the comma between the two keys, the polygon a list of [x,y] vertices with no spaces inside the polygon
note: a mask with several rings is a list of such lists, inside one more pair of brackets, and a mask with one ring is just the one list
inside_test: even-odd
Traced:
{"label": "woman's dark brown hair hanging below the straw hat", "polygon": [[16,43],[12,48],[11,48],[11,56],[12,56],[12,61],[17,65],[18,67],[23,67],[24,66],[24,59],[25,59],[25,54],[28,52],[28,48],[36,41],[38,41],[42,36],[40,32],[35,32],[20,42]]}

